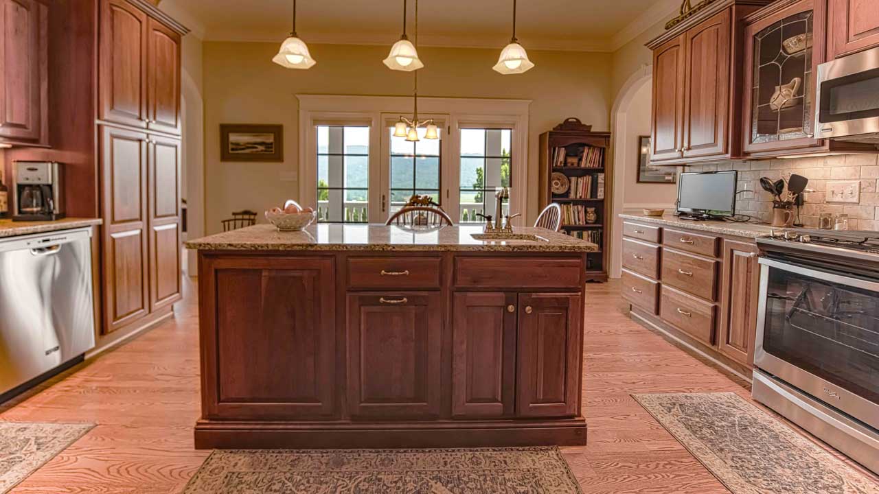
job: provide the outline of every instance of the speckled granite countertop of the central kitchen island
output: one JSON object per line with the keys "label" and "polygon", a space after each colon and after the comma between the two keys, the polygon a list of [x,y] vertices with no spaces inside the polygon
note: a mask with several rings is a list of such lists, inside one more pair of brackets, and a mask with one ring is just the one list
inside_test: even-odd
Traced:
{"label": "speckled granite countertop of the central kitchen island", "polygon": [[403,229],[379,224],[320,223],[298,232],[280,232],[271,224],[258,224],[206,236],[186,243],[202,251],[491,251],[491,252],[592,252],[599,246],[572,236],[540,228],[514,228],[516,235],[541,240],[480,241],[482,225],[459,225],[430,230]]}

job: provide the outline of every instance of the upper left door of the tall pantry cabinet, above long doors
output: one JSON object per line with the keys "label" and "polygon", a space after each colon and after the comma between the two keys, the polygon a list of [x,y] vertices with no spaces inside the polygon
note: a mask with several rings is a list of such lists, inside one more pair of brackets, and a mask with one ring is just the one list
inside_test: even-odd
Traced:
{"label": "upper left door of the tall pantry cabinet, above long doors", "polygon": [[98,119],[147,127],[147,14],[126,0],[100,0]]}

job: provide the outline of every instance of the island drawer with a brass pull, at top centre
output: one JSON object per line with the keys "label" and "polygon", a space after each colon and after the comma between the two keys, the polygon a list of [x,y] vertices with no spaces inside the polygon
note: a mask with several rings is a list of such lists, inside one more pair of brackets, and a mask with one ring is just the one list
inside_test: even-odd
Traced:
{"label": "island drawer with a brass pull, at top centre", "polygon": [[349,288],[439,288],[439,258],[348,258]]}

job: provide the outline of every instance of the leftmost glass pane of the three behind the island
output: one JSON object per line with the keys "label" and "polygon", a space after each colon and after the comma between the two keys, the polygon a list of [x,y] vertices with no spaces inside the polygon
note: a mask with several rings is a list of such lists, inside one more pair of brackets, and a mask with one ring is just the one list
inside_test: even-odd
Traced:
{"label": "leftmost glass pane of the three behind the island", "polygon": [[317,221],[365,223],[369,127],[318,126]]}

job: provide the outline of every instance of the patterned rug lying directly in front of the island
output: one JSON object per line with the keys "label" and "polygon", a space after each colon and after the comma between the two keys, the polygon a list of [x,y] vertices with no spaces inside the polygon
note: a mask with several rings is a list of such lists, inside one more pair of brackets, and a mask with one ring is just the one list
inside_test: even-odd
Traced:
{"label": "patterned rug lying directly in front of the island", "polygon": [[557,447],[214,451],[184,494],[579,494]]}

